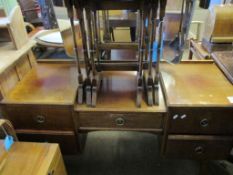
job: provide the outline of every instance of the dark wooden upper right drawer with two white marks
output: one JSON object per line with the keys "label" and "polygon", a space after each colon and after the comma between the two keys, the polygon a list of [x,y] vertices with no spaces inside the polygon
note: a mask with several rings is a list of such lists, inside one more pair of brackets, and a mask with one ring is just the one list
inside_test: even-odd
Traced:
{"label": "dark wooden upper right drawer with two white marks", "polygon": [[170,134],[233,134],[233,108],[171,108]]}

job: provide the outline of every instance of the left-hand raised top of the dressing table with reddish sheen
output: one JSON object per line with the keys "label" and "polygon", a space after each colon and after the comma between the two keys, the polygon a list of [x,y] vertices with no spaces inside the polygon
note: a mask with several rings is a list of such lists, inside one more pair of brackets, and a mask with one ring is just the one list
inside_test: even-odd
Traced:
{"label": "left-hand raised top of the dressing table with reddish sheen", "polygon": [[39,63],[2,103],[73,105],[77,85],[73,63]]}

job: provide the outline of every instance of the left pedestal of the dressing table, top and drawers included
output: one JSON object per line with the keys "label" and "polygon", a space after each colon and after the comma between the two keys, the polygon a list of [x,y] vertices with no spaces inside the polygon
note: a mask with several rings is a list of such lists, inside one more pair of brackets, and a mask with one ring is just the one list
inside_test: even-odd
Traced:
{"label": "left pedestal of the dressing table, top and drawers included", "polygon": [[1,101],[2,113],[19,140],[59,143],[63,153],[75,153],[76,88],[74,65],[40,63]]}

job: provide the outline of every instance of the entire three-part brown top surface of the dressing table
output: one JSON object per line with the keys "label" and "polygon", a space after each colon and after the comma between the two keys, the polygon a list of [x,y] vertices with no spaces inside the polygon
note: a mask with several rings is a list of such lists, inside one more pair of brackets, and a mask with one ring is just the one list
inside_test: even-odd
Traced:
{"label": "entire three-part brown top surface of the dressing table", "polygon": [[[75,105],[76,111],[166,112],[159,90],[159,105],[150,107],[143,97],[136,107],[136,72],[101,73],[102,87],[95,108]],[[233,107],[233,86],[213,63],[161,64],[162,87],[168,106]],[[18,83],[2,103],[73,105],[77,90],[74,63],[39,63]]]}

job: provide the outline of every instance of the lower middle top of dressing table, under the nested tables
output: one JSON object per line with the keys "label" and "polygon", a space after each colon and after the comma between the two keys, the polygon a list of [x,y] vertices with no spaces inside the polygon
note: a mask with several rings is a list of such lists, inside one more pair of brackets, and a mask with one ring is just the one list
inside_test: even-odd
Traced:
{"label": "lower middle top of dressing table, under the nested tables", "polygon": [[163,94],[159,90],[159,105],[150,107],[143,98],[141,108],[136,107],[136,72],[106,71],[102,73],[102,88],[98,94],[95,108],[76,105],[76,111],[111,112],[166,112]]}

